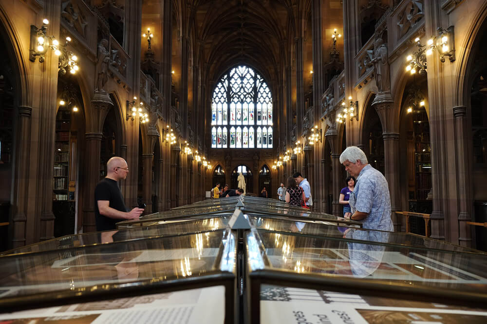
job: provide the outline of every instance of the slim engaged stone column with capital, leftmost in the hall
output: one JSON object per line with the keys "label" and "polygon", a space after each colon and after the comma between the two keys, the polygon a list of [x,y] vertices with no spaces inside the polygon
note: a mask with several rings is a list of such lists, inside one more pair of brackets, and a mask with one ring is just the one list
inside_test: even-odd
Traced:
{"label": "slim engaged stone column with capital, leftmost in the hall", "polygon": [[19,120],[17,124],[17,167],[15,168],[15,185],[12,205],[13,237],[12,248],[25,245],[25,223],[27,222],[27,188],[29,186],[29,154],[31,140],[31,116],[32,108],[28,106],[19,107]]}

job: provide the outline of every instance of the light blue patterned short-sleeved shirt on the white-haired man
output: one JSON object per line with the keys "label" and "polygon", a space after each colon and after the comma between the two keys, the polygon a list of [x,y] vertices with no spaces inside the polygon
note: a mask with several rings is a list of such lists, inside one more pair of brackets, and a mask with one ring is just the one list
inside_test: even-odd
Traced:
{"label": "light blue patterned short-sleeved shirt on the white-haired man", "polygon": [[352,214],[355,211],[369,214],[362,222],[363,228],[393,231],[391,196],[386,178],[370,164],[360,174],[353,194],[350,195]]}

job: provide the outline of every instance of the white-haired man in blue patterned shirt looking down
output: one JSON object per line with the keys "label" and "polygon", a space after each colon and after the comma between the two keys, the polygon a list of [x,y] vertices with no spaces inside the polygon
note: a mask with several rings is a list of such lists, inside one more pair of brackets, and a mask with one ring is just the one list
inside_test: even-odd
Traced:
{"label": "white-haired man in blue patterned shirt looking down", "polygon": [[368,164],[367,156],[356,146],[349,146],[341,153],[340,163],[357,180],[350,195],[350,218],[361,221],[363,228],[393,231],[391,196],[386,178]]}

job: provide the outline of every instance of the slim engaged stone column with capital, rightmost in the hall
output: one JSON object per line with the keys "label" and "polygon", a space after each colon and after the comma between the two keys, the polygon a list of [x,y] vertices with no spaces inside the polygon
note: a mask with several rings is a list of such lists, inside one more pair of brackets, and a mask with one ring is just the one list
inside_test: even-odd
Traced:
{"label": "slim engaged stone column with capital, rightmost in the hall", "polygon": [[457,145],[456,147],[459,148],[457,150],[457,158],[458,158],[458,200],[459,200],[459,214],[458,214],[458,230],[459,230],[459,237],[458,241],[459,244],[462,246],[471,247],[472,246],[472,233],[471,233],[471,225],[468,225],[466,222],[471,221],[471,212],[470,212],[470,188],[471,185],[469,183],[468,178],[468,142],[465,134],[468,134],[467,131],[467,119],[466,119],[467,107],[465,106],[456,106],[453,107],[453,116],[455,118],[455,138]]}

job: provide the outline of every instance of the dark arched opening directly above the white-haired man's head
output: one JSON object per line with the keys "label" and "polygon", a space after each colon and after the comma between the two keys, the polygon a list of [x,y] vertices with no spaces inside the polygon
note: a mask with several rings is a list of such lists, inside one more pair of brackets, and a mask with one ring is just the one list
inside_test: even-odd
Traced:
{"label": "dark arched opening directly above the white-haired man's head", "polygon": [[379,115],[372,106],[375,95],[369,98],[369,102],[365,108],[363,131],[362,131],[362,145],[363,151],[367,155],[367,159],[375,169],[384,174],[384,140],[382,138],[382,124],[380,123]]}

